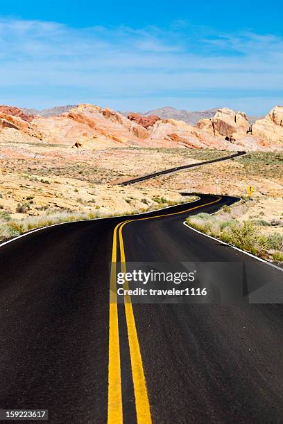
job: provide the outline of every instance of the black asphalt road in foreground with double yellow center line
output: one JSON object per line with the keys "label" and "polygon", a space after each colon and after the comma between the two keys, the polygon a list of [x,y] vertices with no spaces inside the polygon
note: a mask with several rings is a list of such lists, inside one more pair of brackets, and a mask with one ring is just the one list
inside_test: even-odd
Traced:
{"label": "black asphalt road in foreground with double yellow center line", "polygon": [[[0,247],[0,408],[49,409],[64,424],[282,423],[282,272],[182,224],[234,201],[202,195],[123,229],[124,218],[73,222]],[[113,254],[241,263],[246,296],[110,303]]]}

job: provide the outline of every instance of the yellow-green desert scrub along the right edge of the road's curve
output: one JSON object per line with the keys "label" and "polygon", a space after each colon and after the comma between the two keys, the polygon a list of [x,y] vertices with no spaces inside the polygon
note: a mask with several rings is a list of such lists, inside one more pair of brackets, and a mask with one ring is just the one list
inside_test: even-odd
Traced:
{"label": "yellow-green desert scrub along the right edge of the road's curve", "polygon": [[[238,206],[238,208],[241,205]],[[227,211],[227,209],[225,209]],[[236,211],[236,214],[238,211]],[[239,222],[236,218],[227,219],[229,213],[219,215],[209,215],[208,213],[198,213],[189,216],[187,223],[199,231],[209,234],[209,236],[223,240],[224,242],[249,251],[251,254],[265,256],[269,251],[275,251],[273,260],[281,261],[283,258],[283,236],[280,233],[263,234],[259,227],[247,220]],[[232,215],[232,214],[231,214]]]}

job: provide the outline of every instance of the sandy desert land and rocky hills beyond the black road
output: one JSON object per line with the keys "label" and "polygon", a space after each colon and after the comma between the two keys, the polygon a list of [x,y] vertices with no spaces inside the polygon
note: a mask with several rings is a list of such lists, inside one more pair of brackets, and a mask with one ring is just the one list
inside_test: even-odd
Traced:
{"label": "sandy desert land and rocky hills beyond the black road", "polygon": [[[254,124],[246,114],[218,109],[196,126],[159,116],[78,105],[52,116],[0,107],[0,238],[62,220],[158,209],[184,200],[180,192],[218,193],[252,202],[240,220],[283,233],[282,111]],[[245,157],[164,175],[133,186],[119,183],[233,150]],[[194,198],[194,197],[193,197]]]}

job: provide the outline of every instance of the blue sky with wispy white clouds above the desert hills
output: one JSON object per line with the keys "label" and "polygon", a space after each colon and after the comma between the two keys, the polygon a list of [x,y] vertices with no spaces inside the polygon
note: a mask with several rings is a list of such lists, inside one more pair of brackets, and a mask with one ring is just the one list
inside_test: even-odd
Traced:
{"label": "blue sky with wispy white clouds above the desert hills", "polygon": [[0,103],[265,114],[283,104],[282,12],[276,0],[6,2]]}

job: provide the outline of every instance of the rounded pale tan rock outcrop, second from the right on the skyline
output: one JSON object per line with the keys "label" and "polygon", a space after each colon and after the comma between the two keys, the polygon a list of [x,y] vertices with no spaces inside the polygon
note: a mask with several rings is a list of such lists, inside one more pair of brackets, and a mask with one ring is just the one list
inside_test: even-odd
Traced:
{"label": "rounded pale tan rock outcrop, second from the right on the skyline", "polygon": [[250,123],[246,114],[234,112],[232,109],[218,109],[218,112],[210,119],[200,119],[197,128],[214,136],[229,136],[235,132],[247,132]]}

